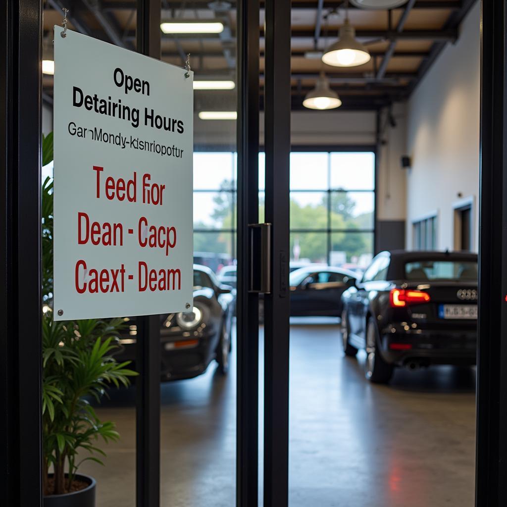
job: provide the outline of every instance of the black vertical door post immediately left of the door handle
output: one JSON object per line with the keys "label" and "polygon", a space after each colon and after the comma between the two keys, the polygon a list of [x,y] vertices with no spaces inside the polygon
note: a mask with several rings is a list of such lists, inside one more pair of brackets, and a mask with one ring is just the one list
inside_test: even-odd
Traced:
{"label": "black vertical door post immediately left of the door handle", "polygon": [[259,221],[259,0],[238,3],[236,505],[258,507],[259,297],[248,293],[248,224]]}

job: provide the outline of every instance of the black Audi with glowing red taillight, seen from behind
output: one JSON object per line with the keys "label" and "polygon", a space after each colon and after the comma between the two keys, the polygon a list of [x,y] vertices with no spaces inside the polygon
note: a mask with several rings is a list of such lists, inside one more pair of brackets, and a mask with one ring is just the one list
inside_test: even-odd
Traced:
{"label": "black Audi with glowing red taillight, seen from behind", "polygon": [[384,251],[342,296],[346,355],[366,349],[366,377],[388,382],[396,366],[474,365],[477,255]]}

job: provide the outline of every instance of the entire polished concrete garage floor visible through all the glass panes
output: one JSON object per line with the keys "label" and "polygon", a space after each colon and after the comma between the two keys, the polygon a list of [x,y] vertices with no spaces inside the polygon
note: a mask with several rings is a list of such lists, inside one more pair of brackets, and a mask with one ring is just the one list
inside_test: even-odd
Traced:
{"label": "entire polished concrete garage floor visible through all the glass panes", "polygon": [[[293,320],[291,507],[472,506],[474,370],[401,370],[374,386],[363,361],[343,357],[336,322]],[[122,439],[106,447],[105,468],[82,466],[97,507],[135,505],[133,398],[117,392],[98,410]],[[234,505],[234,369],[165,383],[162,403],[163,507]]]}

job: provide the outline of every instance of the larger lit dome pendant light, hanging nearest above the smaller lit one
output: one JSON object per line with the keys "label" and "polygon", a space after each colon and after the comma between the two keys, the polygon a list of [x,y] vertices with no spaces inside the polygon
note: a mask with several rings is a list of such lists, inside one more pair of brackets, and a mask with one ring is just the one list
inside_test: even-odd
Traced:
{"label": "larger lit dome pendant light, hanging nearest above the smaller lit one", "polygon": [[348,2],[345,6],[345,24],[340,28],[340,38],[322,55],[322,61],[335,67],[355,67],[370,61],[370,53],[355,38],[354,27],[348,20]]}

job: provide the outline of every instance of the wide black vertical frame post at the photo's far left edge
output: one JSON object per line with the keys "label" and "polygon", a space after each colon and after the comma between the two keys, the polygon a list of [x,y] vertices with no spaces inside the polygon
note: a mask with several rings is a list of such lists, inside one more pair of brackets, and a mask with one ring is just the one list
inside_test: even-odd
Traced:
{"label": "wide black vertical frame post at the photo's far left edge", "polygon": [[40,0],[3,2],[0,30],[0,489],[42,505]]}

